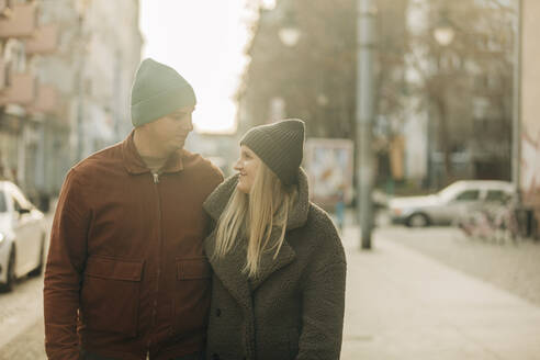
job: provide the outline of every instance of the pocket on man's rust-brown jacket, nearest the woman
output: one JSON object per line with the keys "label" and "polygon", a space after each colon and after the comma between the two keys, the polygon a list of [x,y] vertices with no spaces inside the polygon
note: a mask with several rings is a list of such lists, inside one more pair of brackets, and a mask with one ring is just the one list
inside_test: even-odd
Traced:
{"label": "pocket on man's rust-brown jacket, nearest the woman", "polygon": [[188,335],[207,326],[212,268],[205,257],[178,258],[173,304],[173,333]]}

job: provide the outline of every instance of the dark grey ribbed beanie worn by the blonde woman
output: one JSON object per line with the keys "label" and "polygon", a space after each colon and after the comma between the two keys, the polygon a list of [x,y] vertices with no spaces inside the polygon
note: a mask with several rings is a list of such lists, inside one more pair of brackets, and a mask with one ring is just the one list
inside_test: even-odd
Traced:
{"label": "dark grey ribbed beanie worn by the blonde woman", "polygon": [[304,151],[304,122],[291,119],[249,130],[240,145],[249,147],[281,182],[297,182]]}

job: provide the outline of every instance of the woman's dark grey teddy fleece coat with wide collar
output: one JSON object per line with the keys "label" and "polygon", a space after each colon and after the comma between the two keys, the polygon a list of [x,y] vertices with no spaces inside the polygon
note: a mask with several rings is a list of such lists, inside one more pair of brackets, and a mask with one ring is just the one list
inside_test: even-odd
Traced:
{"label": "woman's dark grey teddy fleece coat with wide collar", "polygon": [[[214,221],[238,177],[223,182],[204,209]],[[265,254],[256,279],[241,272],[245,247],[212,260],[213,291],[206,359],[339,359],[345,307],[346,258],[328,215],[308,201],[307,177],[299,175],[299,201],[277,257]],[[279,236],[279,230],[272,236]],[[205,239],[209,258],[215,234]]]}

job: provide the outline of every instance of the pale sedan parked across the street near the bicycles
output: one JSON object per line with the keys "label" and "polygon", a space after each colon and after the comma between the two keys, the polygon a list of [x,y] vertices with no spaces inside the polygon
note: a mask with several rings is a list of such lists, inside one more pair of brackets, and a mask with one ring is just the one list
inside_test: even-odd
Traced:
{"label": "pale sedan parked across the street near the bicycles", "polygon": [[510,182],[498,180],[461,180],[436,194],[394,198],[389,202],[393,223],[413,227],[449,225],[460,214],[486,202],[506,202],[511,198]]}

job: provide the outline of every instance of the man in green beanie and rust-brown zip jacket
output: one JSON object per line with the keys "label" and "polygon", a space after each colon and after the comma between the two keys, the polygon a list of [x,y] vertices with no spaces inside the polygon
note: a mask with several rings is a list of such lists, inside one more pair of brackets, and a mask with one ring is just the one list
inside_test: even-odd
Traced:
{"label": "man in green beanie and rust-brown zip jacket", "polygon": [[202,203],[223,176],[183,149],[194,106],[177,71],[144,60],[133,132],[68,172],[45,272],[49,359],[201,357],[211,290]]}

